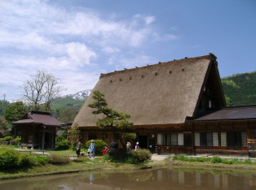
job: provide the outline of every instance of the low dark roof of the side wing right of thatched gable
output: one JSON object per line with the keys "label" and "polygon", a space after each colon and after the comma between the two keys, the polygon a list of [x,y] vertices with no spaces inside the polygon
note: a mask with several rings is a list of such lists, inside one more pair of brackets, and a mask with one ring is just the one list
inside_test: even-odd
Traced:
{"label": "low dark roof of the side wing right of thatched gable", "polygon": [[256,105],[251,106],[227,106],[220,110],[205,111],[204,115],[198,115],[196,121],[212,121],[212,120],[247,120],[256,119]]}

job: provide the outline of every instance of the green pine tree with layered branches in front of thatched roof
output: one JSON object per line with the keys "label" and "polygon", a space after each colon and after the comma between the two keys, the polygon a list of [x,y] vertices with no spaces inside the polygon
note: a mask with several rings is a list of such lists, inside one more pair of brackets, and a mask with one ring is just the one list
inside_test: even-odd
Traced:
{"label": "green pine tree with layered branches in front of thatched roof", "polygon": [[[90,108],[96,109],[92,111],[92,114],[105,115],[104,119],[98,119],[96,122],[96,125],[99,128],[112,130],[113,133],[118,131],[128,132],[130,129],[134,128],[134,124],[126,120],[130,118],[130,114],[124,114],[109,108],[108,103],[104,98],[104,93],[95,91],[92,98],[95,99],[95,101],[88,105]],[[121,136],[120,133],[117,133],[116,136],[121,141],[123,148],[125,148],[126,145],[123,136]]]}

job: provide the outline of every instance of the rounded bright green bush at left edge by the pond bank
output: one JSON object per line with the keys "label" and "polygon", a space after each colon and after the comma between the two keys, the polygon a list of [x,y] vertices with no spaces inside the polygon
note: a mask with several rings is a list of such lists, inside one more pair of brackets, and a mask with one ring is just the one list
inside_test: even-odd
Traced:
{"label": "rounded bright green bush at left edge by the pond bank", "polygon": [[0,149],[0,168],[19,166],[20,153],[14,149]]}

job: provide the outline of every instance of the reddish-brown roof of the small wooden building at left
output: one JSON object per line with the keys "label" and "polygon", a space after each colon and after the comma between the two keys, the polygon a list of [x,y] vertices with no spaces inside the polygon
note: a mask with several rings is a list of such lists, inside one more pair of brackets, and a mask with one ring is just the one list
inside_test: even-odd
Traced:
{"label": "reddish-brown roof of the small wooden building at left", "polygon": [[32,110],[24,116],[24,119],[13,122],[13,124],[38,123],[45,126],[61,127],[64,123],[60,123],[51,113],[44,111]]}

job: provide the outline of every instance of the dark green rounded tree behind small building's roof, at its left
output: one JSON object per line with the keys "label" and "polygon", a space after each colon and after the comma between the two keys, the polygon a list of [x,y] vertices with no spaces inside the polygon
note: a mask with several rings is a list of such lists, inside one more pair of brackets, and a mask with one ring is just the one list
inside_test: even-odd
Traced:
{"label": "dark green rounded tree behind small building's roof, at its left", "polygon": [[5,111],[4,118],[8,123],[15,122],[20,120],[24,114],[28,112],[28,108],[23,105],[22,101],[16,101],[11,103]]}

